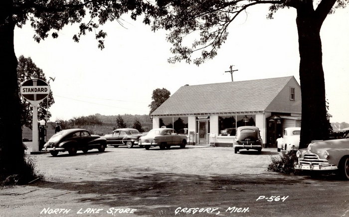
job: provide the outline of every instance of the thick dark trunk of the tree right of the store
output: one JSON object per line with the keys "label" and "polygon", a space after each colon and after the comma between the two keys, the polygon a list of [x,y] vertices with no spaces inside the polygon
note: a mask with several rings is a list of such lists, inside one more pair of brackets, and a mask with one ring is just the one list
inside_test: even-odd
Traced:
{"label": "thick dark trunk of the tree right of the store", "polygon": [[296,21],[302,90],[300,148],[306,148],[312,140],[325,139],[328,133],[320,38],[322,21],[316,16],[313,7],[298,8]]}

